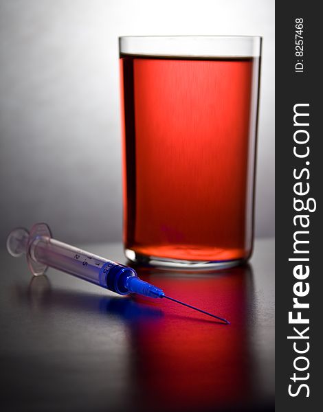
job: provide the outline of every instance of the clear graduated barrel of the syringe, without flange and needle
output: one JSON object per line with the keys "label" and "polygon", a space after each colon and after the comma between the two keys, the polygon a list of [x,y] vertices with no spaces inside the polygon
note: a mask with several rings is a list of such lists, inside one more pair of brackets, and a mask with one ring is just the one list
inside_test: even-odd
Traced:
{"label": "clear graduated barrel of the syringe, without flange and needle", "polygon": [[126,278],[137,276],[135,271],[127,266],[45,236],[36,238],[30,244],[28,253],[35,262],[41,262],[120,295],[129,293],[124,287]]}

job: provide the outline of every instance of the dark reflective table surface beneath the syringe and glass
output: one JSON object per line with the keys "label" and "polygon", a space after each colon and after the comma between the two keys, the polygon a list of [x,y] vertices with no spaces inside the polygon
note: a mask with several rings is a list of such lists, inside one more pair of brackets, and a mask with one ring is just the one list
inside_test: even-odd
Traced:
{"label": "dark reflective table surface beneath the syringe and glass", "polygon": [[[125,262],[121,244],[78,245]],[[274,409],[274,240],[214,273],[137,268],[166,299],[119,297],[1,258],[1,411]]]}

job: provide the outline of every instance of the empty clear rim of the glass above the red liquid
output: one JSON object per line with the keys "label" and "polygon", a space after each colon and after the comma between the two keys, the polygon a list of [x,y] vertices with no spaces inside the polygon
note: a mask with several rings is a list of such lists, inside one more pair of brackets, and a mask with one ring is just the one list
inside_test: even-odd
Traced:
{"label": "empty clear rim of the glass above the red liquid", "polygon": [[262,36],[119,36],[120,56],[252,58],[261,56]]}

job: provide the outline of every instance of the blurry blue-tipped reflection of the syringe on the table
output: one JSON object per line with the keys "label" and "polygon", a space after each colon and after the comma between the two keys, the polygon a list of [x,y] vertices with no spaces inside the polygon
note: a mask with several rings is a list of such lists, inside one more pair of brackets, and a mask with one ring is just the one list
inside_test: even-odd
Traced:
{"label": "blurry blue-tipped reflection of the syringe on the table", "polygon": [[137,304],[129,297],[102,296],[52,288],[46,275],[32,277],[27,287],[17,285],[15,295],[19,302],[29,306],[32,312],[59,310],[105,316],[109,314],[129,322],[158,319],[164,316],[162,310]]}

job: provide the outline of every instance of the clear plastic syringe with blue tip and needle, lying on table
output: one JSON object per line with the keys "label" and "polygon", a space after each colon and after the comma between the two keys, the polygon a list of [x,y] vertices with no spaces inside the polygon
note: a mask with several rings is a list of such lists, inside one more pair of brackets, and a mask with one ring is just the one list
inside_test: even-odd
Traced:
{"label": "clear plastic syringe with blue tip and needle, lying on table", "polygon": [[36,223],[30,232],[23,228],[12,230],[7,239],[7,249],[14,258],[19,258],[25,253],[30,271],[35,276],[43,275],[49,266],[112,290],[119,295],[138,293],[148,297],[169,299],[198,312],[208,314],[224,323],[230,323],[215,314],[166,296],[160,288],[137,277],[137,273],[129,266],[112,262],[53,239],[52,233],[45,223]]}

